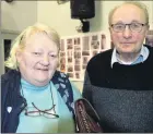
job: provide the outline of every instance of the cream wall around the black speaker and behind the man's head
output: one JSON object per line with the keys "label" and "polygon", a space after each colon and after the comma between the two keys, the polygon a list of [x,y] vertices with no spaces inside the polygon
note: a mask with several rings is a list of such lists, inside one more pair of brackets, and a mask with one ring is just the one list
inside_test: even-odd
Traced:
{"label": "cream wall around the black speaker and behind the man's head", "polygon": [[[153,28],[153,1],[142,1],[148,5],[150,12],[150,24]],[[122,1],[95,1],[95,17],[90,20],[91,32],[108,29],[108,13],[115,5]],[[56,1],[38,1],[38,22],[46,23],[56,28],[61,36],[76,35],[75,27],[80,21],[71,20],[70,2],[58,4]],[[83,82],[74,82],[82,89]]]}

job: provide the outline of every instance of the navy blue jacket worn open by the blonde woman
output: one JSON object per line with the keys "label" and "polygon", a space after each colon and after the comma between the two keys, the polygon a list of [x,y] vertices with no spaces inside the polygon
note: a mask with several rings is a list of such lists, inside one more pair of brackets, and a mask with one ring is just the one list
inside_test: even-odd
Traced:
{"label": "navy blue jacket worn open by the blonde woman", "polygon": [[[58,92],[61,97],[67,96],[66,89],[69,96],[66,103],[69,110],[73,113],[73,108],[71,103],[73,102],[73,94],[71,84],[63,73],[56,71],[52,83],[58,84]],[[15,70],[11,70],[1,76],[1,132],[2,133],[15,133],[19,125],[19,115],[22,110],[27,106],[25,98],[21,96],[20,93],[21,74]],[[64,84],[63,89],[60,85]],[[9,110],[11,112],[9,112]]]}

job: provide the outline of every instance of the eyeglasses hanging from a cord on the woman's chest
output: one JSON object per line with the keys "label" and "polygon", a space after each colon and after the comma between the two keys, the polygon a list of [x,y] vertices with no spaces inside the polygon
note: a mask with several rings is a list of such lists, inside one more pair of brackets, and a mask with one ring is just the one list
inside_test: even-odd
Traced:
{"label": "eyeglasses hanging from a cord on the woman's chest", "polygon": [[32,102],[33,107],[27,107],[25,108],[25,115],[28,115],[28,117],[45,117],[45,118],[51,118],[51,119],[55,119],[55,118],[59,118],[58,114],[56,114],[56,110],[55,110],[55,106],[52,106],[52,108],[50,109],[46,109],[46,110],[40,110],[38,109],[34,102]]}

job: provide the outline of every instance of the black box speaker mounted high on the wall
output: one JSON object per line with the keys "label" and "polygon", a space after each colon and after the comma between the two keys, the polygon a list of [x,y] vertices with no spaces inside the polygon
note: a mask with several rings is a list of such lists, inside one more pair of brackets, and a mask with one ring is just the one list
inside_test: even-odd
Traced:
{"label": "black box speaker mounted high on the wall", "polygon": [[94,0],[70,0],[71,19],[92,19],[95,16]]}

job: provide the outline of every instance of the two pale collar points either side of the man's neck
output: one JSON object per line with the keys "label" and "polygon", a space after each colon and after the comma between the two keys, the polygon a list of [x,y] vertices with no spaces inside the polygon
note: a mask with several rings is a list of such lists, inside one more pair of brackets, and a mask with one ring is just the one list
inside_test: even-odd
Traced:
{"label": "two pale collar points either side of the man's neck", "polygon": [[[142,62],[145,61],[148,59],[148,57],[149,57],[149,49],[143,45],[142,45],[142,48],[141,48],[139,57],[142,57]],[[116,50],[116,48],[114,49],[113,54],[111,54],[111,68],[113,68],[113,64],[115,62],[119,62],[118,59],[117,59],[117,50]]]}

